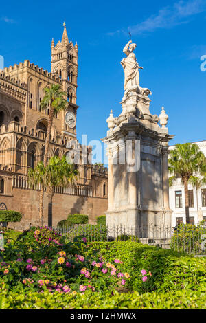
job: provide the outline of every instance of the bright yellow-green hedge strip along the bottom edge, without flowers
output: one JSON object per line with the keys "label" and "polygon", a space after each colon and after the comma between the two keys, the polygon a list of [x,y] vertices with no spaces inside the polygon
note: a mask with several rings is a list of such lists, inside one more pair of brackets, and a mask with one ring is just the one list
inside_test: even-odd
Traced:
{"label": "bright yellow-green hedge strip along the bottom edge, without flowers", "polygon": [[205,291],[176,293],[7,293],[0,291],[0,309],[206,309]]}

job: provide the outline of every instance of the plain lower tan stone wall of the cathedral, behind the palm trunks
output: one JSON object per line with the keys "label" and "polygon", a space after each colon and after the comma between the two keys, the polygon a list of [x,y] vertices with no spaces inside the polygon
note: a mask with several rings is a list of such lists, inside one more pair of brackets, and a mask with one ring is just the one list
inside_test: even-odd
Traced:
{"label": "plain lower tan stone wall of the cathedral, behind the palm trunks", "polygon": [[[38,225],[39,192],[35,190],[21,190],[13,188],[11,195],[0,194],[0,203],[5,203],[8,210],[16,210],[23,214],[20,223],[9,223],[9,227],[25,230],[30,225]],[[44,217],[48,224],[48,198],[44,197]],[[95,224],[97,216],[105,214],[108,208],[107,198],[84,197],[68,194],[54,194],[53,197],[53,226],[56,227],[60,220],[67,219],[69,214],[87,214],[89,223]]]}

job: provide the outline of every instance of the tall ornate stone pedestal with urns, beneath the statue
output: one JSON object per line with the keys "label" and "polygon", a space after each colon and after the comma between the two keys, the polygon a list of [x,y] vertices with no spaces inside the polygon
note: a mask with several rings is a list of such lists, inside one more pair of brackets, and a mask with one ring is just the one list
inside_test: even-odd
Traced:
{"label": "tall ornate stone pedestal with urns, beneath the statue", "polygon": [[[150,113],[151,92],[136,87],[126,91],[122,113],[108,118],[107,225],[138,230],[144,225],[170,226],[168,190],[168,129]],[[164,111],[165,113],[165,111]],[[162,117],[162,118],[161,118]],[[168,117],[168,116],[167,116]]]}

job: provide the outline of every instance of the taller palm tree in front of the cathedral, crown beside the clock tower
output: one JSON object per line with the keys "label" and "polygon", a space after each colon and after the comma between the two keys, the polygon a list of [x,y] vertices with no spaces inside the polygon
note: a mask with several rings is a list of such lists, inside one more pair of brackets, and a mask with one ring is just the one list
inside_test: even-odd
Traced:
{"label": "taller palm tree in front of the cathedral, crown beside the clock tower", "polygon": [[[67,100],[65,100],[65,92],[60,91],[60,85],[52,85],[51,88],[45,87],[43,89],[45,91],[45,96],[43,100],[41,100],[41,107],[46,109],[49,107],[49,121],[47,126],[47,136],[45,140],[45,155],[43,158],[43,165],[47,165],[48,159],[48,150],[49,150],[49,142],[51,137],[52,125],[54,120],[54,113],[58,113],[62,109],[67,109]],[[44,189],[41,186],[40,191],[40,203],[39,203],[39,220],[41,225],[43,225],[43,199],[44,199]]]}

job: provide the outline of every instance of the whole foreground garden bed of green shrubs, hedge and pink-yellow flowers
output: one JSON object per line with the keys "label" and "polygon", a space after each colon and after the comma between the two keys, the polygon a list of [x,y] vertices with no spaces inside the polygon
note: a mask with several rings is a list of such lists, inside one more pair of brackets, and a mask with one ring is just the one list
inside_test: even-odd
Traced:
{"label": "whole foreground garden bed of green shrubs, hedge and pink-yellow flowers", "polygon": [[205,309],[205,258],[67,235],[33,227],[5,243],[0,309]]}

